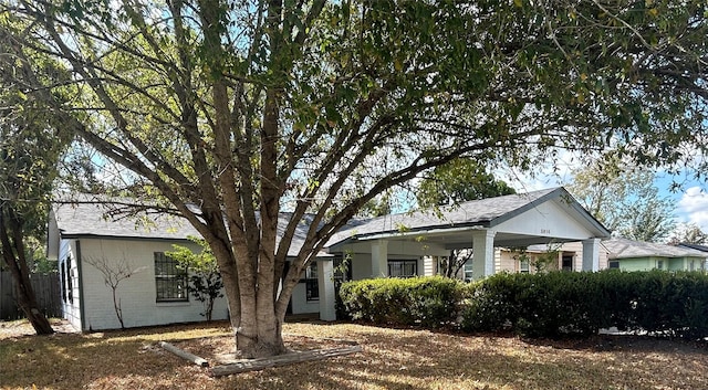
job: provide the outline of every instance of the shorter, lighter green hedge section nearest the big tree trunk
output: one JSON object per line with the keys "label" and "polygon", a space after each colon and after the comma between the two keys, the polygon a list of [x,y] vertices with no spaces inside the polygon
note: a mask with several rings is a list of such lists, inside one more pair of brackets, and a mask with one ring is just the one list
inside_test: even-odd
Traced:
{"label": "shorter, lighter green hedge section nearest the big tree trunk", "polygon": [[465,289],[441,276],[374,278],[342,284],[340,296],[352,319],[437,328],[456,319]]}

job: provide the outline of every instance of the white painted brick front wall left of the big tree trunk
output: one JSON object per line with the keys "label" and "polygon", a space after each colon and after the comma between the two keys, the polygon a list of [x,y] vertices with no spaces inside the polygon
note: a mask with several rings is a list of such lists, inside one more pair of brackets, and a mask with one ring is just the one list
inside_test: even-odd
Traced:
{"label": "white painted brick front wall left of the big tree trunk", "polygon": [[[116,289],[126,327],[204,320],[205,317],[200,315],[204,306],[192,296],[189,296],[188,302],[156,302],[154,253],[173,250],[169,242],[81,240],[84,330],[121,327],[113,305],[112,289],[104,283],[103,274],[90,264],[96,259],[106,259],[113,264],[125,262],[134,270],[134,274],[123,280]],[[212,318],[228,318],[225,298],[216,302]]]}

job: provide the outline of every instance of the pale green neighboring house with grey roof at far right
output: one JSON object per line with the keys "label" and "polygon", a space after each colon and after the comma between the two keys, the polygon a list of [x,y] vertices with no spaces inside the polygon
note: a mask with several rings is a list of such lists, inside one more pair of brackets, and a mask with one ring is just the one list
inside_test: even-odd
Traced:
{"label": "pale green neighboring house with grey roof at far right", "polygon": [[603,241],[608,267],[623,271],[704,271],[708,253],[678,245],[614,238]]}

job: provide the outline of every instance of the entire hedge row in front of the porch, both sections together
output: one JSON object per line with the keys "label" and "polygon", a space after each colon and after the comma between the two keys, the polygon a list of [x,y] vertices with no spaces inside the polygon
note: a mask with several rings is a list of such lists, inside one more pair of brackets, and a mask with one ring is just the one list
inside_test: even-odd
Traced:
{"label": "entire hedge row in front of the porch, both sections together", "polygon": [[601,328],[708,336],[708,276],[665,271],[497,274],[464,284],[442,277],[347,282],[353,319],[439,327],[461,315],[467,331],[587,336]]}

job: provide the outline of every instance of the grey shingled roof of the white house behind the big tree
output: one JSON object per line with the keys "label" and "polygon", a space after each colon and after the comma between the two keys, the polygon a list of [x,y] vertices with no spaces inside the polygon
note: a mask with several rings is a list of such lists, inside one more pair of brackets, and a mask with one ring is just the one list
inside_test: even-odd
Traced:
{"label": "grey shingled roof of the white house behind the big tree", "polygon": [[[610,232],[587,213],[564,188],[559,187],[464,202],[444,208],[439,213],[416,211],[367,220],[352,220],[330,239],[325,247],[350,240],[393,235],[399,233],[402,229],[415,232],[455,228],[493,228],[548,201],[563,202],[570,208],[574,218],[582,220],[587,229],[595,232],[596,236],[610,235]],[[116,219],[111,217],[111,210],[114,209],[115,204],[105,200],[58,203],[52,210],[53,221],[51,222],[55,221],[55,229],[64,239],[186,240],[190,235],[200,236],[199,232],[185,218],[168,215],[157,210],[147,210],[138,212],[136,215]],[[279,232],[284,230],[289,221],[290,214],[281,213]],[[309,226],[306,219],[300,223],[288,251],[290,256],[296,255],[302,247]]]}

